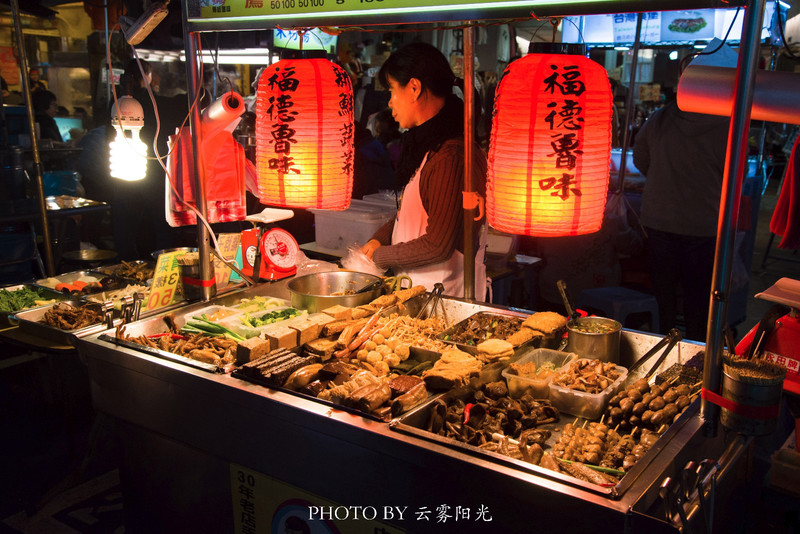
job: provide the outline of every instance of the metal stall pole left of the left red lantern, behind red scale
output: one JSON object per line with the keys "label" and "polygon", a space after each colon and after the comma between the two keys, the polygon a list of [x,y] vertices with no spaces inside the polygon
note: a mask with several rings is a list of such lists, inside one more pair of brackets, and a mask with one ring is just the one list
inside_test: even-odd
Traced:
{"label": "metal stall pole left of the left red lantern, behind red scale", "polygon": [[[197,42],[200,35],[197,33],[190,33],[188,31],[188,21],[186,15],[186,5],[182,7],[183,12],[183,42],[186,52],[186,81],[189,99],[189,106],[191,111],[189,113],[189,131],[192,137],[192,158],[193,171],[194,171],[194,198],[197,206],[197,211],[206,217],[206,184],[205,176],[203,174],[203,166],[201,165],[202,154],[200,153],[200,106],[192,106],[195,102],[197,95],[200,92],[200,74],[197,67]],[[202,58],[199,58],[202,61]],[[208,229],[205,227],[200,217],[197,217],[197,251],[200,255],[200,279],[211,279],[211,247]],[[211,288],[203,286],[203,300],[208,301],[211,299]]]}

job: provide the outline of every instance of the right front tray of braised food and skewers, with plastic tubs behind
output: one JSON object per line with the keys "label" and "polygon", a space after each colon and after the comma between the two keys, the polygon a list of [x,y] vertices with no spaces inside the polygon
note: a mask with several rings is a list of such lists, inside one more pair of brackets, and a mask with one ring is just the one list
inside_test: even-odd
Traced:
{"label": "right front tray of braised food and skewers, with plastic tubs behind", "polygon": [[[542,366],[552,370],[544,378],[532,370],[532,377],[518,374]],[[644,386],[627,378],[627,369],[615,364],[527,348],[501,380],[487,375],[447,391],[390,427],[614,498],[652,461],[651,449],[666,441],[661,438],[672,433],[672,423],[689,416],[684,405],[658,428],[610,422],[609,401]]]}

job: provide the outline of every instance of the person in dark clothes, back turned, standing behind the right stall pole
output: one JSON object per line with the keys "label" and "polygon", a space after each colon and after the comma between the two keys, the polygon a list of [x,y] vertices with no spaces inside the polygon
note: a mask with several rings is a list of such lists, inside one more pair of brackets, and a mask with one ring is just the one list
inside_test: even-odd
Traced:
{"label": "person in dark clothes, back turned, standing behind the right stall pole", "polygon": [[633,163],[646,177],[641,222],[662,334],[675,326],[682,301],[685,337],[706,339],[728,125],[727,117],[687,113],[672,101],[636,136]]}

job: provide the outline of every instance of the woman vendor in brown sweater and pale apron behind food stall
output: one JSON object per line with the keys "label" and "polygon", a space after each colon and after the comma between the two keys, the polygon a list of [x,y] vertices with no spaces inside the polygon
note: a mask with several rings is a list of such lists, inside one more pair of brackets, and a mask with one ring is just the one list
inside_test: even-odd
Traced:
{"label": "woman vendor in brown sweater and pale apron behind food stall", "polygon": [[[378,267],[408,275],[414,285],[464,296],[464,103],[444,55],[422,42],[404,46],[381,67],[378,79],[391,92],[392,115],[407,129],[396,181],[403,189],[397,218],[381,227],[362,251]],[[486,157],[473,148],[475,190],[485,196]],[[486,295],[485,226],[475,223],[475,298]]]}

